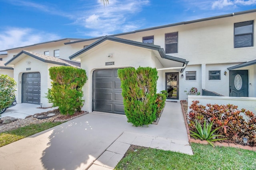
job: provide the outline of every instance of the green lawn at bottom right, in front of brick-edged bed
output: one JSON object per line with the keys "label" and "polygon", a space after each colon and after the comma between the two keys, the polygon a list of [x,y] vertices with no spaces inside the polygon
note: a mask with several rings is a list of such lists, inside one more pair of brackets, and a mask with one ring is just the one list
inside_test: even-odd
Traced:
{"label": "green lawn at bottom right, in front of brick-edged bed", "polygon": [[151,148],[128,150],[116,170],[255,170],[256,152],[191,144],[194,155]]}

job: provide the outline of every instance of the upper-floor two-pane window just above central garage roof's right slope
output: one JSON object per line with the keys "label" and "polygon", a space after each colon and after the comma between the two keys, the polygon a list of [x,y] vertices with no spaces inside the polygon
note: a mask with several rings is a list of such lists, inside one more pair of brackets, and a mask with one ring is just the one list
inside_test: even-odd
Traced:
{"label": "upper-floor two-pane window just above central garage roof's right slope", "polygon": [[178,32],[165,34],[165,53],[178,53]]}

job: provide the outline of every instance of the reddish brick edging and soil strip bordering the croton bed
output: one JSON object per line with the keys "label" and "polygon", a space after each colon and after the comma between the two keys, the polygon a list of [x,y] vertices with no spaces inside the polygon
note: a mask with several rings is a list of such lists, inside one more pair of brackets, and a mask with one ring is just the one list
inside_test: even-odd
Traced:
{"label": "reddish brick edging and soil strip bordering the croton bed", "polygon": [[[207,141],[201,141],[200,139],[194,139],[193,137],[190,136],[190,130],[194,130],[194,129],[191,129],[190,126],[188,125],[188,123],[189,123],[189,121],[188,121],[188,103],[186,100],[182,100],[181,104],[182,104],[184,119],[186,120],[185,124],[186,124],[186,128],[187,128],[189,142],[207,145],[208,144]],[[242,140],[234,141],[234,138],[215,142],[214,145],[215,146],[224,146],[224,147],[236,147],[236,148],[242,148],[242,149],[256,151],[256,143],[254,143],[253,145],[252,144],[250,145],[248,143],[244,144]]]}

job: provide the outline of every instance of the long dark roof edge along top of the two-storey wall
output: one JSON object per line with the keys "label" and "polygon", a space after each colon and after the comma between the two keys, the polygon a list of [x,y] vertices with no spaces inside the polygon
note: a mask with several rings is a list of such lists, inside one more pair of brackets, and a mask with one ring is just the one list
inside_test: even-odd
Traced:
{"label": "long dark roof edge along top of the two-storey wall", "polygon": [[[132,34],[132,33],[143,32],[143,31],[150,31],[150,30],[154,30],[154,29],[161,29],[161,28],[166,28],[166,27],[174,27],[174,26],[178,26],[178,25],[186,25],[186,24],[190,24],[190,23],[198,23],[198,22],[202,22],[202,21],[216,20],[216,19],[220,19],[220,18],[228,18],[228,17],[238,16],[238,15],[243,15],[243,14],[249,14],[249,13],[253,13],[253,12],[256,12],[256,9],[246,10],[246,11],[241,11],[241,12],[234,12],[232,14],[225,14],[225,15],[214,16],[214,17],[202,18],[202,19],[198,19],[198,20],[191,20],[191,21],[183,21],[183,22],[178,22],[178,23],[171,23],[171,24],[161,25],[161,26],[157,26],[157,27],[138,29],[138,30],[135,30],[135,31],[130,31],[130,32],[126,32],[126,33],[118,33],[118,34],[113,34],[113,35],[110,35],[110,36],[116,37],[116,36],[120,36],[120,35],[127,35],[127,34]],[[66,44],[80,43],[80,42],[84,42],[84,41],[100,39],[102,37],[104,37],[104,36],[94,37],[94,38],[90,38],[90,39],[80,39],[78,41],[67,42],[67,43],[64,43],[64,44],[66,45]]]}

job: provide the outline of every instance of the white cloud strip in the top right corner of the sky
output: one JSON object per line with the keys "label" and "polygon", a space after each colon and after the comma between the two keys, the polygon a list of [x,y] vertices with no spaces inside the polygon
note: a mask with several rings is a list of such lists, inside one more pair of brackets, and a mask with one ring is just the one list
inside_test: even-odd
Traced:
{"label": "white cloud strip in the top right corner of the sky", "polygon": [[254,5],[256,0],[217,0],[212,3],[212,9],[219,8],[222,9],[226,6],[236,6],[236,5]]}

